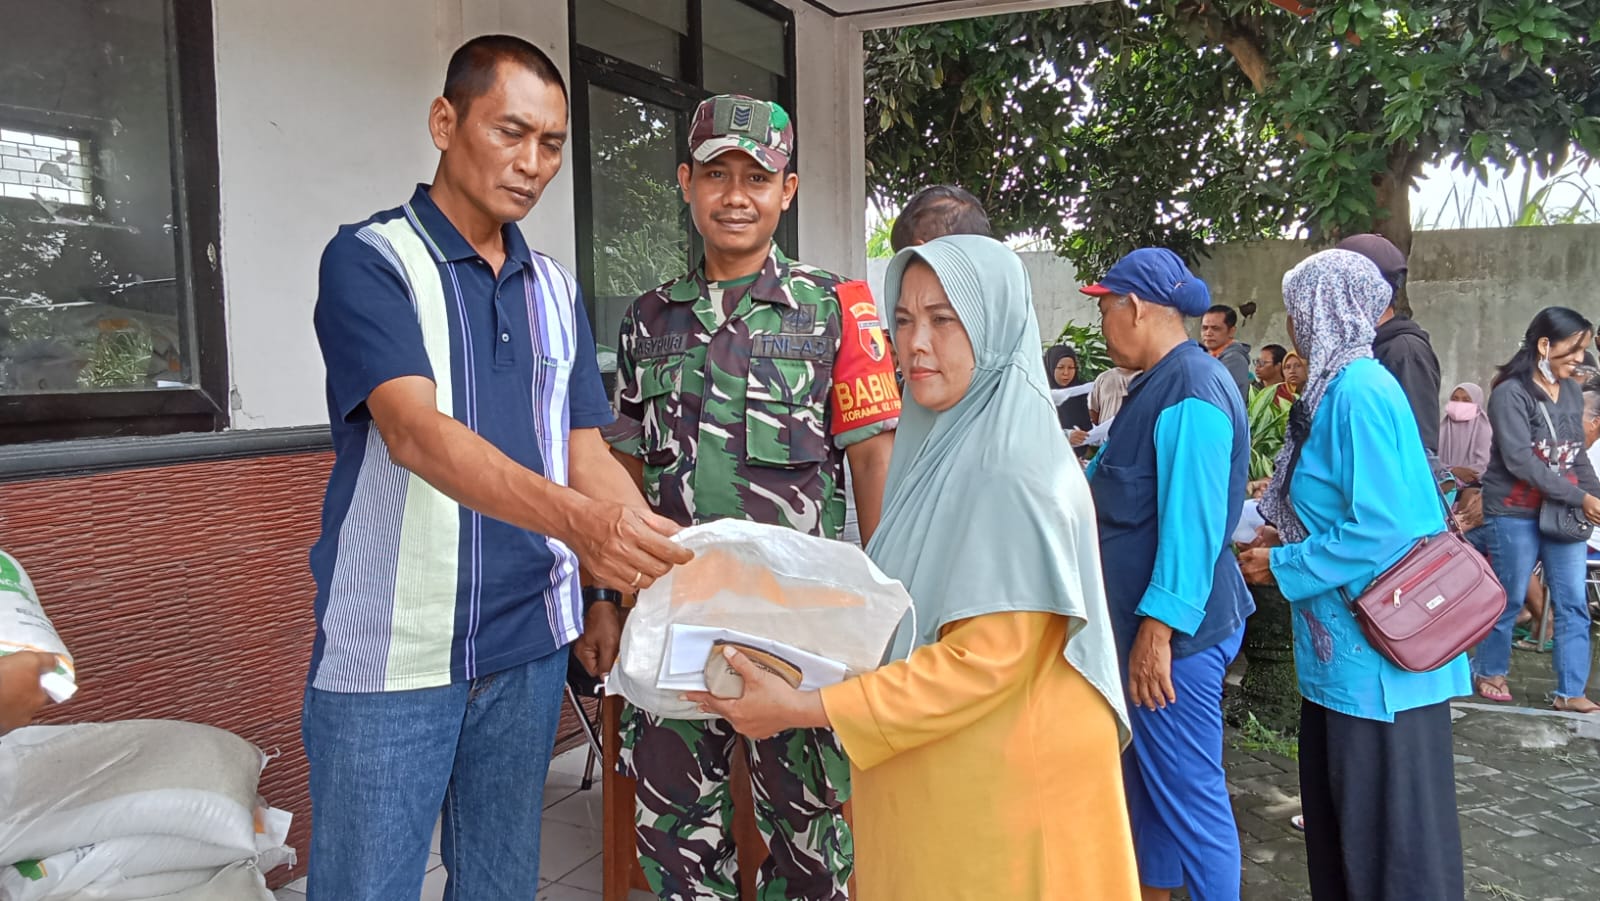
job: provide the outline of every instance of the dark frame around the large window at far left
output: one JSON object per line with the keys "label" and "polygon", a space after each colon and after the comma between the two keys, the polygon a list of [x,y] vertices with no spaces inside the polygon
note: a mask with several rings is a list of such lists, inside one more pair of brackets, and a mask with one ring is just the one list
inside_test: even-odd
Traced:
{"label": "dark frame around the large window at far left", "polygon": [[0,445],[218,432],[229,424],[211,0],[165,0],[179,318],[189,387],[0,395]]}

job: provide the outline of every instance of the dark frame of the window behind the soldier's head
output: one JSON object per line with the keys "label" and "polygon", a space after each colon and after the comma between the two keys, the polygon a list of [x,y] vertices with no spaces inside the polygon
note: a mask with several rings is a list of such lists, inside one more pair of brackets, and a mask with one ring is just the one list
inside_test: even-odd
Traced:
{"label": "dark frame of the window behind the soldier's head", "polygon": [[[664,75],[640,66],[637,62],[629,62],[627,59],[619,59],[608,53],[584,46],[578,42],[578,3],[581,0],[568,0],[566,21],[568,21],[568,46],[571,48],[571,74],[570,74],[570,96],[571,96],[571,117],[573,117],[573,190],[576,197],[576,227],[578,227],[578,283],[582,286],[584,296],[592,296],[595,286],[595,270],[594,270],[594,208],[589,205],[587,198],[592,197],[594,187],[594,171],[592,171],[592,146],[589,142],[589,88],[602,88],[606,91],[616,91],[619,94],[632,96],[645,102],[662,106],[672,109],[683,117],[685,131],[688,128],[688,118],[694,114],[694,107],[709,96],[706,85],[706,53],[704,53],[704,29],[702,29],[702,0],[688,0],[688,34],[682,38],[680,61],[683,67],[683,78],[675,78],[672,75]],[[784,72],[779,80],[779,96],[778,102],[789,110],[789,115],[795,120],[795,150],[790,154],[790,171],[798,171],[800,166],[800,118],[795,110],[797,101],[797,48],[795,48],[795,14],[794,10],[776,3],[774,0],[736,0],[744,6],[749,6],[784,27]],[[688,147],[678,147],[678,163],[690,162]],[[790,256],[800,253],[800,197],[789,206],[784,213],[782,221],[778,224],[778,246]],[[702,253],[702,243],[699,232],[690,227],[690,253],[683,261],[683,272],[688,272],[694,266]],[[662,272],[662,280],[682,275],[682,272]],[[590,326],[597,325],[597,314],[594,306],[589,309]],[[614,334],[595,334],[595,341],[600,344],[613,344],[616,341]]]}

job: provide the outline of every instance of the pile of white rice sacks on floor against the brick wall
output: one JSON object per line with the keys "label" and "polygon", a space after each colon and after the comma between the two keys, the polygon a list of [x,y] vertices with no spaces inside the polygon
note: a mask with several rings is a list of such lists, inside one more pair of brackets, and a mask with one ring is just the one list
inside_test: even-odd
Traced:
{"label": "pile of white rice sacks on floor against the brick wall", "polygon": [[[294,861],[266,755],[198,723],[29,727],[0,741],[0,899],[262,899]],[[250,890],[240,890],[248,885]]]}

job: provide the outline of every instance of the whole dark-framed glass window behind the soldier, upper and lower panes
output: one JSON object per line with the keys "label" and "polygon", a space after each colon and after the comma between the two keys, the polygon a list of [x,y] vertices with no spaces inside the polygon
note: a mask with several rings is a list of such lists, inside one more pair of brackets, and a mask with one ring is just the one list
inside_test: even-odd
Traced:
{"label": "whole dark-framed glass window behind the soldier, upper and lower panes", "polygon": [[[622,312],[702,253],[677,184],[694,107],[709,94],[741,93],[794,114],[794,26],[786,10],[760,0],[571,0],[570,8],[578,269],[610,374]],[[795,234],[790,208],[776,235],[786,253],[795,251]]]}

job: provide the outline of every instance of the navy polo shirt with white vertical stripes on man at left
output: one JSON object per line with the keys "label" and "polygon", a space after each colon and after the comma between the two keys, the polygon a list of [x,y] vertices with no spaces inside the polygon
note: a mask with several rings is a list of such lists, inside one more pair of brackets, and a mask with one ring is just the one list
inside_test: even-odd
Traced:
{"label": "navy polo shirt with white vertical stripes on man at left", "polygon": [[611,422],[589,317],[566,269],[531,253],[515,224],[504,240],[496,275],[418,186],[323,251],[315,325],[334,464],[310,552],[314,688],[448,685],[581,631],[573,552],[397,466],[366,410],[379,384],[424,376],[442,413],[566,483],[570,429]]}

